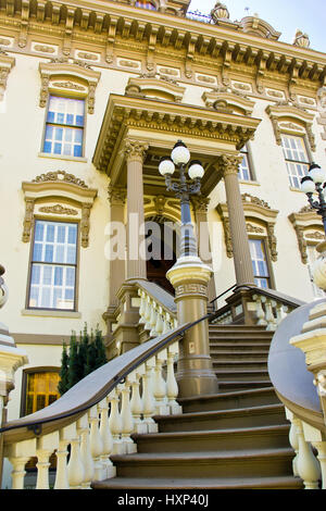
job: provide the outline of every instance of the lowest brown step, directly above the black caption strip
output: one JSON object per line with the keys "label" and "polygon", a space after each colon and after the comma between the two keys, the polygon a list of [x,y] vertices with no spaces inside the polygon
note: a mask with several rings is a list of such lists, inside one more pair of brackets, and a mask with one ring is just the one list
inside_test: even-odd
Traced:
{"label": "lowest brown step, directly above the black caption strip", "polygon": [[[113,477],[105,481],[96,481],[91,484],[95,489],[303,489],[301,479],[298,477],[289,476],[274,476],[274,477],[160,477],[155,478],[152,475],[149,477]],[[171,493],[167,494],[171,496]],[[160,496],[156,502],[161,500],[166,504],[171,504],[171,500]]]}

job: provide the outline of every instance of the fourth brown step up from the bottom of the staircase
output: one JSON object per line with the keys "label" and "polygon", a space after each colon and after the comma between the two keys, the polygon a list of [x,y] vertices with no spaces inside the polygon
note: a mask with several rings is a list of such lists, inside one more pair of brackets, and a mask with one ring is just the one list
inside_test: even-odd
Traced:
{"label": "fourth brown step up from the bottom of the staircase", "polygon": [[259,427],[287,424],[283,404],[263,404],[259,407],[190,412],[177,415],[158,415],[160,433],[200,432],[226,429],[227,427]]}

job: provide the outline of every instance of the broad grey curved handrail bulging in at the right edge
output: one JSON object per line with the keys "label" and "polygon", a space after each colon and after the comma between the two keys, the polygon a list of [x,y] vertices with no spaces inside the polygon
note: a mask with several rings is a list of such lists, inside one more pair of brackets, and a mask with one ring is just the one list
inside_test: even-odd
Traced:
{"label": "broad grey curved handrail bulging in at the right edge", "polygon": [[321,401],[308,371],[304,353],[289,340],[301,333],[310,310],[325,299],[305,303],[292,311],[278,326],[271,344],[268,373],[279,399],[298,417],[326,432]]}

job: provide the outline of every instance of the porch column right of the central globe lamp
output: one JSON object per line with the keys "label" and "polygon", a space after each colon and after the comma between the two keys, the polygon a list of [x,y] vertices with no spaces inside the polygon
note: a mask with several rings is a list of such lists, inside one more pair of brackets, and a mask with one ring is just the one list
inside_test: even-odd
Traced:
{"label": "porch column right of the central globe lamp", "polygon": [[238,169],[241,161],[237,155],[220,157],[220,169],[223,173],[226,201],[229,217],[231,244],[237,285],[254,284],[249,240],[246,228],[242,199],[240,194]]}

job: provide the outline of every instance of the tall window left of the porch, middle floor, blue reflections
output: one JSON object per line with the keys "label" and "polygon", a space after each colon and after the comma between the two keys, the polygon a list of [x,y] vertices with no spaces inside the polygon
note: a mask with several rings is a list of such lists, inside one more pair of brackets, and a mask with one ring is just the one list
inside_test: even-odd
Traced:
{"label": "tall window left of the porch, middle floor, blue reflections", "polygon": [[77,224],[35,222],[29,309],[75,310]]}

